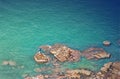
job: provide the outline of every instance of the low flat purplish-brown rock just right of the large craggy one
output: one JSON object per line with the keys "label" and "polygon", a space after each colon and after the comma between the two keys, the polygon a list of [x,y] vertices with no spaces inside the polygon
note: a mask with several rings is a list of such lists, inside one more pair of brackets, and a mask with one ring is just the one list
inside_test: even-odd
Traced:
{"label": "low flat purplish-brown rock just right of the large craggy one", "polygon": [[89,48],[82,52],[82,56],[87,59],[101,59],[109,58],[110,54],[105,52],[102,48]]}

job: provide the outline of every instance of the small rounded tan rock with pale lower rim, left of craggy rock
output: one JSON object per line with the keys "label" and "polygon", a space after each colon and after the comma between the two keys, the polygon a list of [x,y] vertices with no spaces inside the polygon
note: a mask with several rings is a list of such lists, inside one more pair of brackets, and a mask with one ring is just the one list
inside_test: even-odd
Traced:
{"label": "small rounded tan rock with pale lower rim, left of craggy rock", "polygon": [[49,57],[42,53],[36,53],[34,59],[37,63],[46,63],[49,61]]}

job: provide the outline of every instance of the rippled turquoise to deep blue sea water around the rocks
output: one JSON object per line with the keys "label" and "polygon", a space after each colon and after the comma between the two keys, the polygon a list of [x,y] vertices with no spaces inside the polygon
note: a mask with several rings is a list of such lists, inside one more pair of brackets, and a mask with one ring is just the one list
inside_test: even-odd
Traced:
{"label": "rippled turquoise to deep blue sea water around the rocks", "polygon": [[[116,0],[117,1],[117,0]],[[120,61],[120,22],[118,2],[112,0],[0,0],[0,64],[17,62],[14,69],[0,65],[0,79],[22,79],[35,75],[33,59],[40,45],[62,43],[73,49],[102,47],[110,59],[61,63],[61,69],[87,68],[93,71],[109,61]],[[112,45],[104,47],[102,42]],[[24,66],[20,69],[19,66]],[[41,73],[50,73],[49,70]]]}

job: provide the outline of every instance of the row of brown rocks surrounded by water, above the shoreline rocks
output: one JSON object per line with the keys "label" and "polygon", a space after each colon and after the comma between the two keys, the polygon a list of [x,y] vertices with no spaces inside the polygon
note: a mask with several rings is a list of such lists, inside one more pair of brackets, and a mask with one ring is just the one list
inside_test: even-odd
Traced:
{"label": "row of brown rocks surrounded by water, above the shoreline rocks", "polygon": [[[110,57],[110,54],[108,54],[102,48],[89,48],[81,53],[80,51],[71,49],[65,45],[55,44],[53,46],[50,45],[40,46],[40,49],[42,49],[44,52],[47,52],[47,54],[48,53],[53,54],[54,57],[60,62],[78,61],[81,56],[84,56],[87,59],[101,59]],[[39,61],[43,61],[43,58],[45,58],[45,62],[48,62],[47,59],[48,57],[46,55],[36,54],[34,56],[35,61],[37,61],[36,58],[39,58]]]}

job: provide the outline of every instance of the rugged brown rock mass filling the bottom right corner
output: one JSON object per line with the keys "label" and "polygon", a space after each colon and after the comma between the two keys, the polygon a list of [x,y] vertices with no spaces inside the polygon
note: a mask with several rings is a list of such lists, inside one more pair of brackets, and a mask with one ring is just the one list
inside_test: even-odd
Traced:
{"label": "rugged brown rock mass filling the bottom right corner", "polygon": [[120,62],[109,62],[104,64],[101,68],[100,74],[96,74],[97,77],[102,77],[103,79],[120,79]]}

